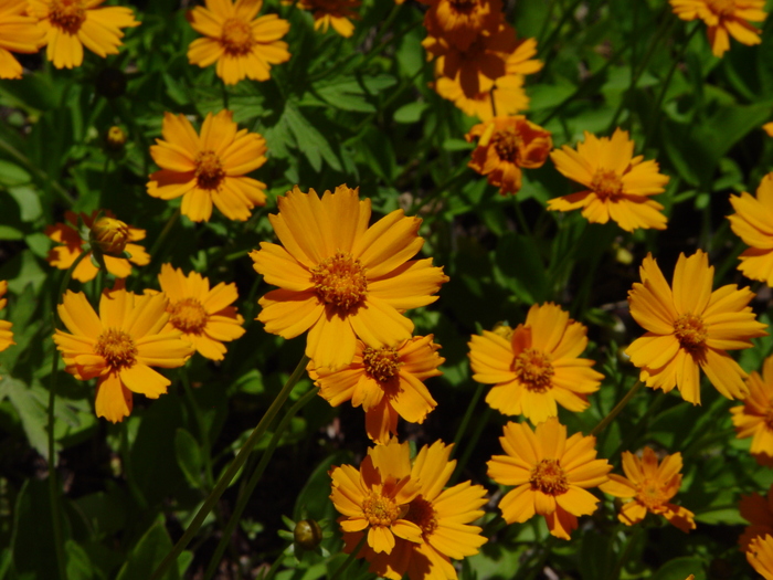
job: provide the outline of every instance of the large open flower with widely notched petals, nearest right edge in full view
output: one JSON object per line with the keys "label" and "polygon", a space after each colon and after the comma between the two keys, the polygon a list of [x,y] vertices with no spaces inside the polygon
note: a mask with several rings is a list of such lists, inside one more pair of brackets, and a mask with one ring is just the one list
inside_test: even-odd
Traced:
{"label": "large open flower with widely notched petals, nearest right edge in full view", "polygon": [[746,373],[726,350],[749,348],[751,338],[766,335],[765,325],[748,306],[754,294],[734,284],[711,292],[714,268],[700,250],[690,257],[679,254],[673,291],[652,254],[639,273],[642,283],[628,292],[628,305],[647,333],[625,351],[642,369],[639,379],[665,392],[677,387],[682,399],[700,404],[703,369],[728,399],[749,394]]}

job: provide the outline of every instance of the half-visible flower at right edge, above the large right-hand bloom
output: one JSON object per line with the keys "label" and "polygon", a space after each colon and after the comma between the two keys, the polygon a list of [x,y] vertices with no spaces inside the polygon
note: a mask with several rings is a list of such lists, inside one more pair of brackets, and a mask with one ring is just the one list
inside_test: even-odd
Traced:
{"label": "half-visible flower at right edge, above the large right-hand bloom", "polygon": [[728,215],[730,228],[748,250],[739,256],[738,268],[751,280],[773,286],[773,173],[762,178],[756,197],[745,191],[730,196],[735,213]]}

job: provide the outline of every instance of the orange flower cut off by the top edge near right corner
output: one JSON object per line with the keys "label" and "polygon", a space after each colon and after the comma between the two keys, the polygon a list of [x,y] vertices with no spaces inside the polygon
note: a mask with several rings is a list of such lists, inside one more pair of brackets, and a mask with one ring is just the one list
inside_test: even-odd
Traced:
{"label": "orange flower cut off by the top edge near right corner", "polygon": [[702,20],[708,27],[711,52],[722,56],[730,49],[730,36],[741,44],[760,44],[760,30],[750,22],[767,17],[765,0],[669,0],[681,20]]}

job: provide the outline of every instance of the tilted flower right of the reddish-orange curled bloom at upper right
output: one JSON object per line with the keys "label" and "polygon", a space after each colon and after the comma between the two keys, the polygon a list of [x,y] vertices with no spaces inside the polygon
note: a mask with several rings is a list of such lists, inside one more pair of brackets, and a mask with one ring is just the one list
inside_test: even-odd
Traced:
{"label": "tilted flower right of the reddish-orange curled bloom at upper right", "polygon": [[657,161],[634,157],[634,141],[628,131],[615,129],[612,137],[597,138],[585,131],[585,141],[576,151],[564,145],[550,154],[555,169],[585,188],[576,193],[548,200],[548,209],[582,209],[592,223],[612,219],[627,232],[637,228],[665,230],[663,205],[649,196],[663,193],[668,176],[658,172]]}

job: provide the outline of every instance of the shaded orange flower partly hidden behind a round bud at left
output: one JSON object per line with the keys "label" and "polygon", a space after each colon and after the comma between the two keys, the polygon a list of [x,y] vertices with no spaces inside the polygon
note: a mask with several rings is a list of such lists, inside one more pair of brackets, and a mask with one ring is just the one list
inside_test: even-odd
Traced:
{"label": "shaded orange flower partly hidden behind a round bud at left", "polygon": [[[54,225],[49,225],[45,229],[45,235],[47,235],[54,242],[61,244],[55,245],[49,250],[49,255],[46,260],[49,264],[59,268],[67,270],[73,265],[75,259],[80,256],[84,251],[84,245],[87,241],[78,232],[78,219],[83,222],[87,230],[92,230],[94,225],[94,220],[100,213],[99,210],[93,211],[92,213],[75,213],[73,211],[66,211],[64,213],[64,222],[56,223]],[[115,219],[115,215],[110,211],[102,212],[105,218]],[[115,220],[118,223],[118,220]],[[126,224],[124,224],[126,225]],[[105,254],[102,256],[105,261],[105,267],[107,272],[113,274],[118,278],[125,278],[131,275],[131,264],[138,266],[145,266],[150,263],[150,255],[145,251],[145,249],[136,243],[145,240],[145,230],[140,230],[133,225],[126,225],[127,229],[127,243],[124,250],[131,254],[131,257],[117,257],[116,255]],[[91,246],[86,250],[87,254],[92,254],[93,250]],[[88,282],[94,280],[94,277],[99,272],[99,268],[95,266],[89,260],[88,255],[75,267],[73,271],[73,277],[80,282]]]}

